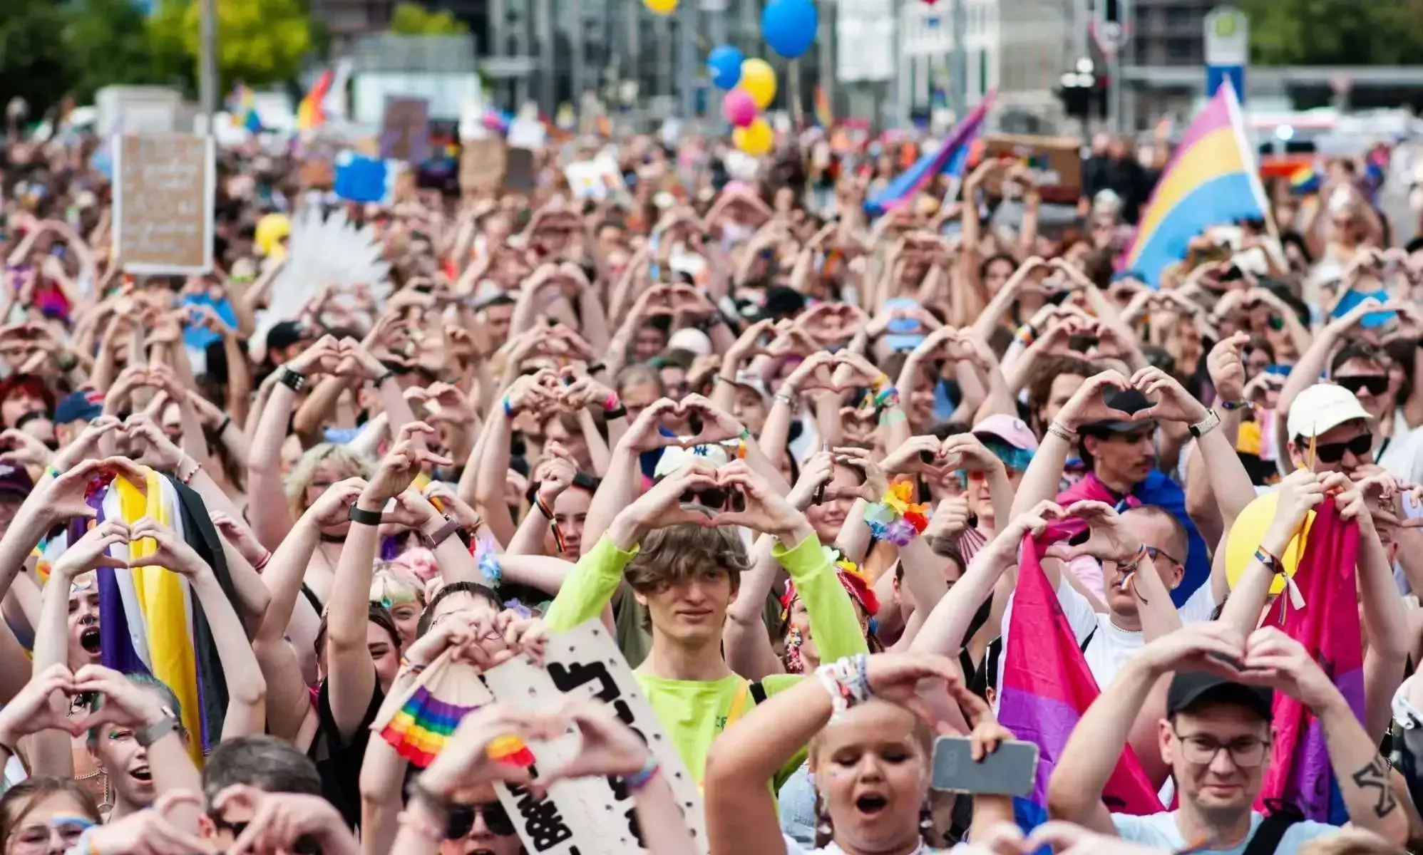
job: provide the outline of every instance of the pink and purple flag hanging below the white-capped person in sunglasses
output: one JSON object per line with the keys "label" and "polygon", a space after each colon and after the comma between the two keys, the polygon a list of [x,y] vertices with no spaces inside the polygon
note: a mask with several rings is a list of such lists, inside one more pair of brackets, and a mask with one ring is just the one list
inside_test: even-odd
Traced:
{"label": "pink and purple flag hanging below the white-capped person in sunglasses", "polygon": [[[1309,526],[1309,542],[1295,572],[1305,607],[1294,609],[1289,598],[1275,598],[1262,626],[1281,627],[1313,653],[1362,723],[1363,636],[1355,595],[1358,553],[1358,524],[1339,519],[1338,506],[1325,502]],[[1257,807],[1266,798],[1278,798],[1292,802],[1309,819],[1333,825],[1348,822],[1319,718],[1284,691],[1275,693],[1274,717],[1275,748]]]}

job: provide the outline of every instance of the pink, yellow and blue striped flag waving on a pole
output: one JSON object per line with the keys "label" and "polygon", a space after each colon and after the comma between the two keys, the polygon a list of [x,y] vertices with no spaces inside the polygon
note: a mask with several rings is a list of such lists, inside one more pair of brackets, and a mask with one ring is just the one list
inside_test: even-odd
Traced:
{"label": "pink, yellow and blue striped flag waving on a pole", "polygon": [[1151,286],[1160,286],[1161,270],[1184,259],[1187,245],[1201,230],[1262,219],[1266,211],[1241,105],[1227,81],[1185,129],[1117,269],[1136,270]]}

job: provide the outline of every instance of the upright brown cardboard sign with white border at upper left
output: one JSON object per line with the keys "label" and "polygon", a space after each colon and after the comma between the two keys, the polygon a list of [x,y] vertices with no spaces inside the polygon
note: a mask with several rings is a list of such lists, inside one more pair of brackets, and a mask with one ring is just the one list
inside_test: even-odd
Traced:
{"label": "upright brown cardboard sign with white border at upper left", "polygon": [[212,270],[213,142],[196,134],[118,137],[114,252],[131,273]]}

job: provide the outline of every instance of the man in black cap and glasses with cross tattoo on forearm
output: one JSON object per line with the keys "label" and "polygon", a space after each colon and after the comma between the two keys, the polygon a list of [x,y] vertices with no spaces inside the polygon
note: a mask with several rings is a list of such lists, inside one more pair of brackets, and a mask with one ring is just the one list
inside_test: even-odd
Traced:
{"label": "man in black cap and glasses with cross tattoo on forearm", "polygon": [[[1180,807],[1144,817],[1113,814],[1101,801],[1103,788],[1137,713],[1167,674],[1165,717],[1157,726],[1157,741],[1161,760],[1171,767]],[[1054,819],[1175,852],[1191,848],[1241,855],[1257,834],[1282,831],[1278,844],[1265,851],[1295,855],[1306,841],[1336,834],[1336,825],[1284,811],[1266,819],[1252,807],[1271,761],[1275,691],[1298,699],[1319,718],[1349,822],[1402,842],[1407,819],[1393,795],[1387,764],[1309,652],[1274,627],[1244,639],[1214,620],[1147,644],[1097,696],[1053,770],[1049,812]]]}

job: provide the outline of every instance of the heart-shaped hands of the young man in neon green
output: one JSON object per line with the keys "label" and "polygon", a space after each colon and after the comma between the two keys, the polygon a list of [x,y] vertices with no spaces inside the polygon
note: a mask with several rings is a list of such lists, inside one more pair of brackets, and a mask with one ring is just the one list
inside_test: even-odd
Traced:
{"label": "heart-shaped hands of the young man in neon green", "polygon": [[[687,496],[713,492],[729,496],[726,505],[736,509],[717,511],[704,505],[683,505]],[[684,524],[744,525],[751,531],[780,538],[787,548],[794,548],[814,535],[805,515],[740,460],[720,469],[710,464],[693,462],[672,472],[623,508],[608,526],[608,533],[618,548],[632,549],[652,529]]]}

